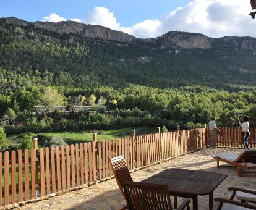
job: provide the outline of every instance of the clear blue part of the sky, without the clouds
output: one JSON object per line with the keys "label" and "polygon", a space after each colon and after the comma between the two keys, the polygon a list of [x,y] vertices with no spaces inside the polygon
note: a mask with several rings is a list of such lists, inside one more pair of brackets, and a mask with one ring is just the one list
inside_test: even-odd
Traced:
{"label": "clear blue part of the sky, without the clouds", "polygon": [[124,26],[133,25],[146,19],[158,19],[179,6],[185,6],[191,0],[0,0],[0,16],[14,16],[35,22],[56,13],[66,19],[83,19],[94,7],[106,7],[113,12]]}

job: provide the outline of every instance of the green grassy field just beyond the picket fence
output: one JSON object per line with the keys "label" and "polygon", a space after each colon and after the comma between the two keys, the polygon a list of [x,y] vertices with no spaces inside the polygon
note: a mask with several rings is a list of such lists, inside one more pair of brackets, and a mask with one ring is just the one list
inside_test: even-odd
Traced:
{"label": "green grassy field just beyond the picket fence", "polygon": [[[143,135],[147,133],[156,133],[156,128],[152,127],[129,127],[122,129],[113,129],[113,130],[100,130],[95,132],[50,132],[50,133],[40,133],[47,136],[59,136],[64,138],[66,143],[81,143],[84,141],[92,141],[93,133],[98,133],[97,140],[113,140],[116,138],[123,138],[130,136],[132,130],[136,130],[136,135]],[[36,134],[35,134],[36,135]],[[12,135],[8,136],[7,140],[13,145],[19,145],[23,135]]]}

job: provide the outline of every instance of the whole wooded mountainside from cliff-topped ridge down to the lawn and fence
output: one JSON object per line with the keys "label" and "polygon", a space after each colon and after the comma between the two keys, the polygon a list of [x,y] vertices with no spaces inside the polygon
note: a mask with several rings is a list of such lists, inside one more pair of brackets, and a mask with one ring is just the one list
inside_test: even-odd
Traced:
{"label": "whole wooded mountainside from cliff-topped ridge down to the lawn and fence", "polygon": [[[0,19],[0,36],[0,126],[7,133],[202,127],[212,115],[231,126],[236,112],[256,125],[255,38],[174,31],[143,40],[83,23],[15,18]],[[69,120],[33,114],[50,96],[68,111],[99,101],[108,109]]]}

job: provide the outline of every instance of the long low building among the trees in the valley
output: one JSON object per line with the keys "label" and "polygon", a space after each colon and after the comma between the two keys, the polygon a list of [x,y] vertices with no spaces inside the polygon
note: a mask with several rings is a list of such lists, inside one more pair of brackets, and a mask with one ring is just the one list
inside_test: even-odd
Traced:
{"label": "long low building among the trees in the valley", "polygon": [[[51,111],[54,111],[56,109],[59,109],[61,112],[65,112],[66,111],[66,107],[67,106],[52,106],[50,107]],[[92,109],[92,108],[98,108],[98,109],[106,109],[106,106],[78,106],[78,105],[73,105],[74,107],[74,111],[75,112],[79,112],[79,111],[83,111],[83,110],[87,110],[87,109]],[[35,111],[37,112],[46,112],[46,107],[43,105],[36,105],[34,106]]]}

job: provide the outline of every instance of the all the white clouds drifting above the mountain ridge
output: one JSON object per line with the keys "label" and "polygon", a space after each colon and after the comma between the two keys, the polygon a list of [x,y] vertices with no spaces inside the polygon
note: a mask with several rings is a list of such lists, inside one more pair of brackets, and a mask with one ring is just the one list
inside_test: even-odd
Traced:
{"label": "all the white clouds drifting above the mountain ridge", "polygon": [[[125,27],[117,22],[113,12],[109,12],[105,7],[95,7],[88,12],[83,22],[123,31],[138,38],[160,36],[168,31],[203,33],[211,37],[256,37],[256,20],[248,15],[250,10],[250,1],[194,0],[184,7],[170,11],[158,20],[144,20]],[[49,22],[62,20],[66,19],[55,13],[43,18],[43,21]],[[70,20],[82,22],[80,19]]]}

